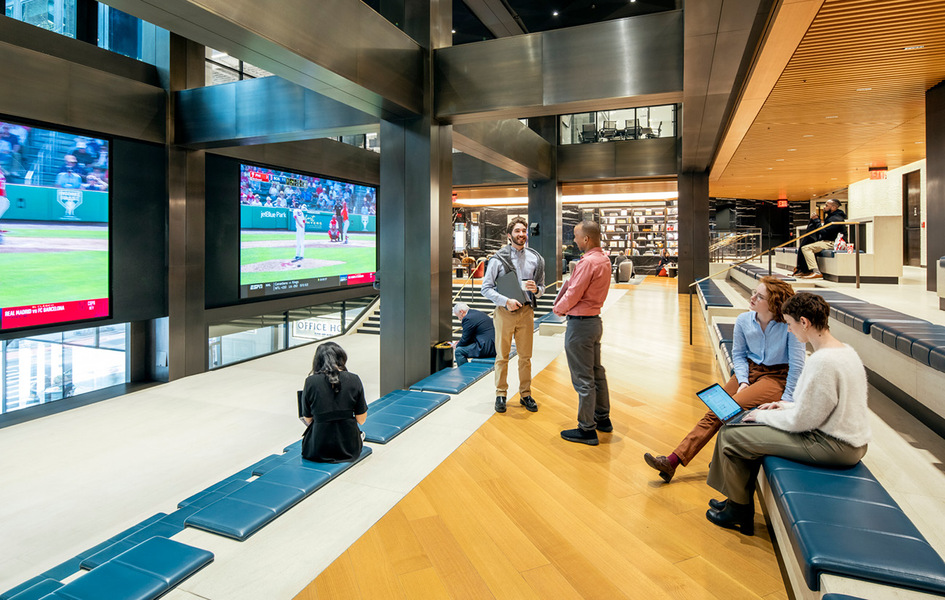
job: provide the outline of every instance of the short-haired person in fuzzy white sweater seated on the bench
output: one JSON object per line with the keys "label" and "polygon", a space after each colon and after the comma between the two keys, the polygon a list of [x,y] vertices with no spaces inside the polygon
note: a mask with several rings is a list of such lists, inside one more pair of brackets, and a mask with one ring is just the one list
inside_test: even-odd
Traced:
{"label": "short-haired person in fuzzy white sweater seated on the bench", "polygon": [[830,334],[830,306],[800,293],[782,310],[791,333],[814,348],[794,402],[763,404],[744,419],[768,427],[723,427],[709,467],[708,484],[727,500],[710,500],[706,518],[745,535],[754,533],[752,496],[763,457],[850,467],[870,441],[866,370],[856,352]]}

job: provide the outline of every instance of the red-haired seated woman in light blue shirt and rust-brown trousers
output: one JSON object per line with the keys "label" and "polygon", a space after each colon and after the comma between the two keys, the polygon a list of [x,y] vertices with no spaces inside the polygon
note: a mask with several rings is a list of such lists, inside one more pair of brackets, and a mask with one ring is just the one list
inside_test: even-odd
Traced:
{"label": "red-haired seated woman in light blue shirt and rust-brown trousers", "polygon": [[[748,301],[750,310],[735,320],[732,340],[735,374],[724,387],[742,408],[793,401],[794,386],[804,368],[805,357],[804,344],[788,332],[781,312],[781,305],[793,295],[790,284],[774,277],[762,277]],[[672,454],[653,456],[647,452],[643,459],[669,483],[676,467],[688,465],[721,427],[722,422],[710,411]]]}

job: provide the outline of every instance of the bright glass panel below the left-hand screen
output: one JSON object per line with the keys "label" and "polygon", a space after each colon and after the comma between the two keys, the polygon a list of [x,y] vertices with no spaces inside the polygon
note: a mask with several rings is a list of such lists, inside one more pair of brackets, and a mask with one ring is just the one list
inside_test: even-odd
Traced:
{"label": "bright glass panel below the left-hand screen", "polygon": [[0,342],[0,414],[127,383],[127,326]]}

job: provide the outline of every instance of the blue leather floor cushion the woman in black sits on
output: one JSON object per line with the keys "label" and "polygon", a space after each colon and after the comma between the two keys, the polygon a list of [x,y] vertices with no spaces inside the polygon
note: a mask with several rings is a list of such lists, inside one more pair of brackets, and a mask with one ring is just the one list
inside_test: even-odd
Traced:
{"label": "blue leather floor cushion the woman in black sits on", "polygon": [[287,455],[280,466],[202,508],[184,523],[245,540],[369,454],[371,449],[365,446],[356,460],[345,463],[314,463]]}

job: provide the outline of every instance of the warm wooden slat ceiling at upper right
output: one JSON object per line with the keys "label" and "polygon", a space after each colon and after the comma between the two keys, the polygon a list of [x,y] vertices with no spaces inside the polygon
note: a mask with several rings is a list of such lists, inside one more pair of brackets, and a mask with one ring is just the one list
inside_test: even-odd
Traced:
{"label": "warm wooden slat ceiling at upper right", "polygon": [[805,200],[921,160],[943,79],[945,1],[826,0],[710,194]]}

